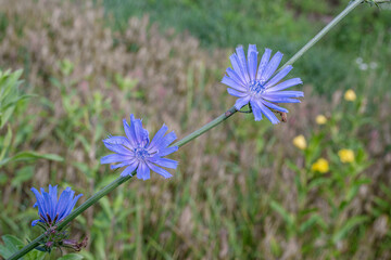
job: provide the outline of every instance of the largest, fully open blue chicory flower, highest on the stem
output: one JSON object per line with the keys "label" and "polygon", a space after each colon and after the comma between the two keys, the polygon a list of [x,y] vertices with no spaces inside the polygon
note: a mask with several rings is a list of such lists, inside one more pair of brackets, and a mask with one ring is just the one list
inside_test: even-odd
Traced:
{"label": "largest, fully open blue chicory flower, highest on the stem", "polygon": [[299,100],[292,98],[304,96],[304,93],[281,90],[303,82],[300,78],[292,78],[278,83],[292,69],[291,65],[286,66],[270,79],[282,60],[282,53],[277,52],[272,60],[270,54],[272,50],[265,49],[260,67],[257,67],[256,46],[249,46],[248,61],[245,61],[243,47],[238,47],[236,53],[229,57],[234,69],[227,68],[228,76],[223,77],[222,83],[230,87],[227,89],[229,94],[239,98],[235,104],[238,110],[250,103],[255,121],[261,120],[262,115],[265,115],[273,123],[278,123],[279,120],[269,108],[288,113],[276,103],[300,103]]}

